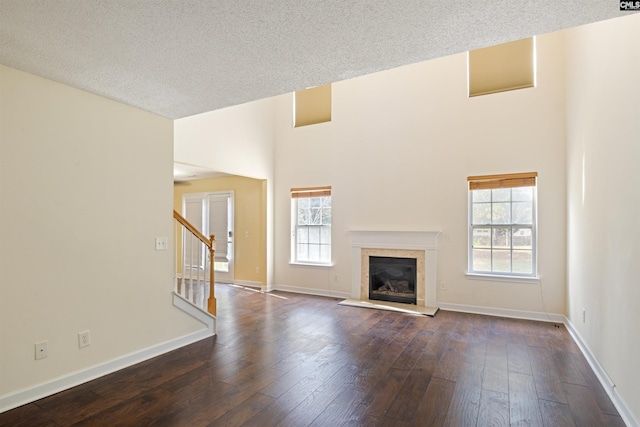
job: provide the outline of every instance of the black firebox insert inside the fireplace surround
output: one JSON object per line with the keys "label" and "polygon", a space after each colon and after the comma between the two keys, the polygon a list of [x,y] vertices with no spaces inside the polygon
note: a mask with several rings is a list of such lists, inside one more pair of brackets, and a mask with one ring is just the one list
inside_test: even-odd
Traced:
{"label": "black firebox insert inside the fireplace surround", "polygon": [[416,303],[416,259],[369,257],[369,299]]}

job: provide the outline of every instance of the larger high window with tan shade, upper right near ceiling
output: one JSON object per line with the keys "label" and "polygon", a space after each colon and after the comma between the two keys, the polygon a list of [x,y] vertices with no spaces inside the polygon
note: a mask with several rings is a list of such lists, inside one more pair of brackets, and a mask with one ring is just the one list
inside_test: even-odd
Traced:
{"label": "larger high window with tan shade, upper right near ceiling", "polygon": [[535,37],[472,50],[469,96],[535,86]]}

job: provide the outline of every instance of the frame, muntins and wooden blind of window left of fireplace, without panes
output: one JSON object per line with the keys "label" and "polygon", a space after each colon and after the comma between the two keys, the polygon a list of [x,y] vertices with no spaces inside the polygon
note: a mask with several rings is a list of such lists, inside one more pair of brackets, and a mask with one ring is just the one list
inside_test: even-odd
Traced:
{"label": "frame, muntins and wooden blind of window left of fireplace, without panes", "polygon": [[[326,235],[326,233],[322,232],[323,228],[328,228],[328,237],[329,237],[329,242],[324,243],[324,245],[326,247],[328,247],[328,259],[326,260],[310,260],[308,257],[307,259],[301,259],[298,257],[298,246],[299,246],[299,242],[298,242],[298,236],[299,236],[299,229],[301,228],[306,228],[309,229],[309,227],[314,227],[316,225],[313,224],[306,224],[306,225],[299,225],[298,224],[298,204],[300,202],[301,199],[314,199],[314,198],[325,198],[325,197],[329,197],[331,198],[331,187],[330,186],[324,186],[324,187],[307,187],[307,188],[292,188],[291,189],[291,257],[290,257],[290,264],[295,264],[295,265],[306,265],[306,266],[321,266],[321,267],[326,267],[326,266],[332,266],[332,245],[333,245],[333,236],[332,236],[332,227],[331,227],[331,222],[332,222],[332,207],[330,206],[330,213],[329,213],[329,223],[328,224],[323,224],[322,222],[322,218],[323,218],[323,213],[326,209],[325,206],[321,206],[321,222],[320,224],[317,224],[317,227],[319,228],[319,239],[320,241],[318,242],[318,245],[321,246],[323,245],[323,242],[321,240],[321,236]],[[305,243],[303,243],[305,244]],[[311,242],[306,242],[307,246],[311,246],[312,243]]]}

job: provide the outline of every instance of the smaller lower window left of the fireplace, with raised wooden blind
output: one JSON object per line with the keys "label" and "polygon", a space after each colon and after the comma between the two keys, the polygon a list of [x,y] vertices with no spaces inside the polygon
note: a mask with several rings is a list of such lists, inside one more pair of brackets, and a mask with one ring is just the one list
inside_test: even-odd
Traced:
{"label": "smaller lower window left of the fireplace, with raised wooden blind", "polygon": [[291,258],[331,264],[331,187],[291,189]]}

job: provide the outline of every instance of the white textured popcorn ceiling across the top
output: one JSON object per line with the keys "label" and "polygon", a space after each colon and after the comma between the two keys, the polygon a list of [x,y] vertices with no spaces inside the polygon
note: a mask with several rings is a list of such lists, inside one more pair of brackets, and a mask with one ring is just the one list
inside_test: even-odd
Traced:
{"label": "white textured popcorn ceiling across the top", "polygon": [[177,119],[626,13],[616,0],[0,0],[0,63]]}

